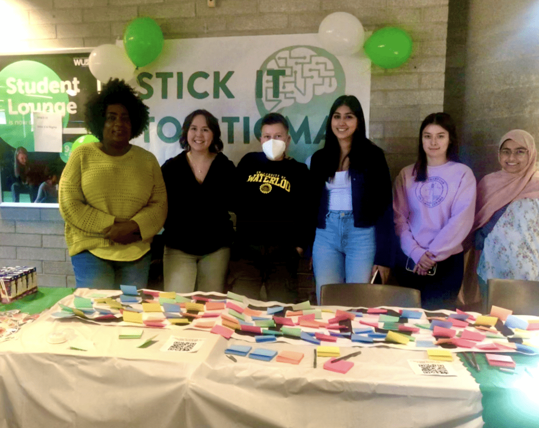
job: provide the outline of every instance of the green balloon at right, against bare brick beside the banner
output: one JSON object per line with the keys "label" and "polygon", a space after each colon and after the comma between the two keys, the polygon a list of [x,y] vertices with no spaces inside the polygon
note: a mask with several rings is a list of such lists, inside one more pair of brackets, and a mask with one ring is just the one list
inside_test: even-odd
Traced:
{"label": "green balloon at right, against bare brick beside the banner", "polygon": [[412,38],[396,27],[385,27],[372,33],[363,50],[374,64],[382,68],[400,67],[412,53]]}

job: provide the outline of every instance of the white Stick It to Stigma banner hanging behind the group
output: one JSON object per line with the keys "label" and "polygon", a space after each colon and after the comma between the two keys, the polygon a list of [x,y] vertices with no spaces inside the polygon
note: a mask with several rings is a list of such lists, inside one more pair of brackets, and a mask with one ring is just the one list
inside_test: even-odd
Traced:
{"label": "white Stick It to Stigma banner hanging behind the group", "polygon": [[235,164],[261,151],[260,118],[270,112],[288,119],[288,154],[300,162],[323,146],[338,96],[356,95],[369,124],[370,60],[363,52],[335,57],[317,34],[165,40],[160,57],[140,68],[136,81],[151,122],[132,142],[160,164],[181,152],[183,120],[196,109],[218,118],[223,152]]}

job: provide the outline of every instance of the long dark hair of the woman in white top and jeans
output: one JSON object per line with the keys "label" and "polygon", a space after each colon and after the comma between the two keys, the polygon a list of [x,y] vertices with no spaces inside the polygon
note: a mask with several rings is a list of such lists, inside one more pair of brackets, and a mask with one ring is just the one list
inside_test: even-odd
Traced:
{"label": "long dark hair of the woman in white top and jeans", "polygon": [[333,106],[329,109],[329,116],[326,123],[326,144],[324,144],[323,152],[326,162],[326,179],[335,177],[335,172],[338,170],[339,162],[341,159],[341,146],[338,144],[337,137],[333,134],[331,129],[331,118],[341,106],[347,106],[352,110],[357,117],[357,128],[352,136],[352,145],[350,153],[348,153],[348,159],[350,160],[350,168],[361,169],[359,165],[360,151],[365,144],[371,145],[372,143],[366,136],[365,128],[365,116],[363,115],[363,109],[361,107],[360,100],[354,95],[341,95],[338,97]]}

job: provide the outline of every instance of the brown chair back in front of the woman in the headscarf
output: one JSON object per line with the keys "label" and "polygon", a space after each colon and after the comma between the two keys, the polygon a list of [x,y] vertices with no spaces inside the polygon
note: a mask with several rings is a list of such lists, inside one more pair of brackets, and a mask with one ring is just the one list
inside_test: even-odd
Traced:
{"label": "brown chair back in front of the woman in the headscarf", "polygon": [[518,315],[539,315],[539,282],[524,279],[489,279],[487,311],[492,305]]}

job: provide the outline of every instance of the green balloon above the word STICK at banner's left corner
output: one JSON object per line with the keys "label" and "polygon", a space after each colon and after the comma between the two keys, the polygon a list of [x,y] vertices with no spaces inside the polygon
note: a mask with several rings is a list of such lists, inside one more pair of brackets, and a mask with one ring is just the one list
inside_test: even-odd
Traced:
{"label": "green balloon above the word STICK at banner's left corner", "polygon": [[151,18],[135,18],[123,34],[127,56],[137,67],[154,61],[163,49],[163,32]]}

